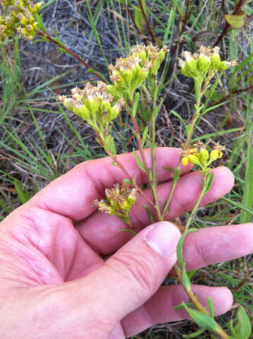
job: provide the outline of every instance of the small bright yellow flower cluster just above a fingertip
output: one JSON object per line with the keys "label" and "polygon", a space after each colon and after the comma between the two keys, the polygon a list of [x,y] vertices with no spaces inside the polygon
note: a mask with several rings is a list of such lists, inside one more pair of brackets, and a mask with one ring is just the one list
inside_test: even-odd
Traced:
{"label": "small bright yellow flower cluster just above a fingertip", "polygon": [[204,143],[199,141],[194,144],[193,148],[182,151],[182,164],[188,165],[189,162],[192,162],[192,164],[201,167],[201,169],[206,169],[211,162],[220,159],[220,157],[223,156],[223,150],[225,150],[225,147],[216,143],[213,150],[208,153]]}

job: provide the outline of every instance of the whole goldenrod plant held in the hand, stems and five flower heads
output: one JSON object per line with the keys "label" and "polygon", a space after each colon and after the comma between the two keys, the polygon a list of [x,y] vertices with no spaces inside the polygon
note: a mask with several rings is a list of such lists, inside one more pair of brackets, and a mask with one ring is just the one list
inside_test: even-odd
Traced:
{"label": "whole goldenrod plant held in the hand, stems and five flower heads", "polygon": [[[129,228],[126,231],[136,234],[134,225],[131,225],[129,211],[136,201],[136,195],[142,194],[146,198],[146,205],[143,206],[150,215],[151,222],[153,220],[164,220],[170,209],[170,201],[172,199],[177,180],[180,177],[181,165],[188,165],[189,162],[196,165],[203,177],[202,190],[199,195],[192,213],[190,214],[182,238],[177,247],[178,265],[175,266],[177,280],[184,286],[187,295],[191,300],[191,305],[182,303],[179,307],[183,307],[192,317],[192,319],[201,327],[195,336],[208,330],[219,338],[241,338],[240,333],[230,336],[213,318],[213,304],[208,298],[208,310],[201,305],[199,300],[192,292],[189,276],[185,270],[184,258],[182,256],[182,245],[184,237],[189,232],[196,229],[191,228],[192,220],[196,213],[201,198],[211,189],[214,174],[211,172],[211,165],[217,159],[223,156],[225,147],[216,143],[212,150],[208,150],[208,145],[204,145],[200,141],[192,145],[192,136],[196,121],[204,114],[206,102],[202,102],[206,90],[213,91],[218,85],[217,78],[223,74],[223,71],[236,65],[236,61],[221,61],[218,47],[203,47],[195,54],[183,52],[184,60],[179,59],[182,75],[191,77],[194,81],[196,105],[192,122],[186,126],[187,141],[184,143],[180,161],[176,169],[170,169],[173,174],[173,184],[170,194],[163,210],[158,203],[157,192],[157,174],[155,163],[155,118],[160,111],[161,101],[158,100],[158,69],[165,59],[167,47],[155,47],[152,44],[148,46],[137,45],[133,47],[128,57],[117,59],[115,65],[110,65],[110,81],[111,84],[98,82],[98,84],[86,84],[83,90],[74,88],[71,97],[59,96],[58,100],[64,104],[67,109],[77,114],[87,121],[93,127],[97,140],[100,145],[105,148],[105,152],[112,157],[112,165],[120,167],[126,175],[123,186],[114,185],[112,189],[106,189],[106,200],[94,201],[93,204],[103,213],[109,215],[117,215],[123,220]],[[212,83],[213,78],[216,81]],[[140,97],[142,100],[140,100]],[[151,114],[146,126],[141,125],[142,110],[141,101],[150,102]],[[208,98],[206,99],[208,100]],[[125,110],[131,119],[131,128],[139,145],[139,155],[134,151],[136,163],[148,177],[149,186],[153,193],[153,201],[151,201],[136,184],[135,179],[131,178],[127,169],[117,159],[117,149],[112,136],[112,124],[119,117],[120,111]],[[151,148],[152,167],[148,167],[145,153],[145,147]],[[152,208],[155,215],[152,215]],[[247,318],[247,315],[245,314]],[[235,333],[235,331],[234,331]],[[194,338],[193,336],[191,338]],[[246,338],[246,337],[245,337]],[[247,337],[249,338],[249,337]]]}

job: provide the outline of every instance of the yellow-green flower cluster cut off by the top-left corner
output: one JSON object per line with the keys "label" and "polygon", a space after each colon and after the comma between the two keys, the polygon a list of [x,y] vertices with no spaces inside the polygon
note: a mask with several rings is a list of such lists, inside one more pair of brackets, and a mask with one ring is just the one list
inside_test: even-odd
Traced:
{"label": "yellow-green flower cluster cut off by the top-left corner", "polygon": [[33,4],[30,0],[4,0],[4,16],[0,16],[0,40],[20,34],[32,40],[37,33],[36,14],[42,2]]}

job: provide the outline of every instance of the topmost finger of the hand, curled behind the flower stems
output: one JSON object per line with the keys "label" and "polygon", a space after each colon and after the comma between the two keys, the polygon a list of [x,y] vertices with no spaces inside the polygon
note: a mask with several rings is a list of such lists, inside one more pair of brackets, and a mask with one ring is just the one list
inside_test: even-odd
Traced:
{"label": "topmost finger of the hand, curled behind the flower stems", "polygon": [[[157,148],[155,160],[157,164],[158,182],[171,178],[172,171],[164,166],[175,168],[180,160],[180,148]],[[139,153],[137,152],[139,155]],[[151,150],[144,150],[148,167],[152,167]],[[148,176],[136,165],[134,153],[117,156],[117,159],[129,172],[131,178],[136,177],[136,183],[147,184]],[[111,164],[112,159],[105,157],[98,160],[88,160],[77,165],[71,171],[57,178],[42,189],[30,203],[54,213],[64,215],[73,221],[83,220],[93,213],[94,199],[101,199],[105,188],[121,183],[126,175],[119,167]],[[181,174],[192,169],[192,165],[182,166]]]}

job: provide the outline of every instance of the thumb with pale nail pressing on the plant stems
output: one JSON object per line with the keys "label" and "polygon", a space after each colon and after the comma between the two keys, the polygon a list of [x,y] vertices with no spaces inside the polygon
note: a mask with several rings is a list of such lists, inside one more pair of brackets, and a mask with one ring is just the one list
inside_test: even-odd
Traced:
{"label": "thumb with pale nail pressing on the plant stems", "polygon": [[90,307],[96,312],[99,309],[100,319],[117,323],[158,290],[177,261],[175,251],[180,236],[170,222],[146,227],[100,268],[76,280],[75,290],[80,295],[88,291],[93,299]]}

